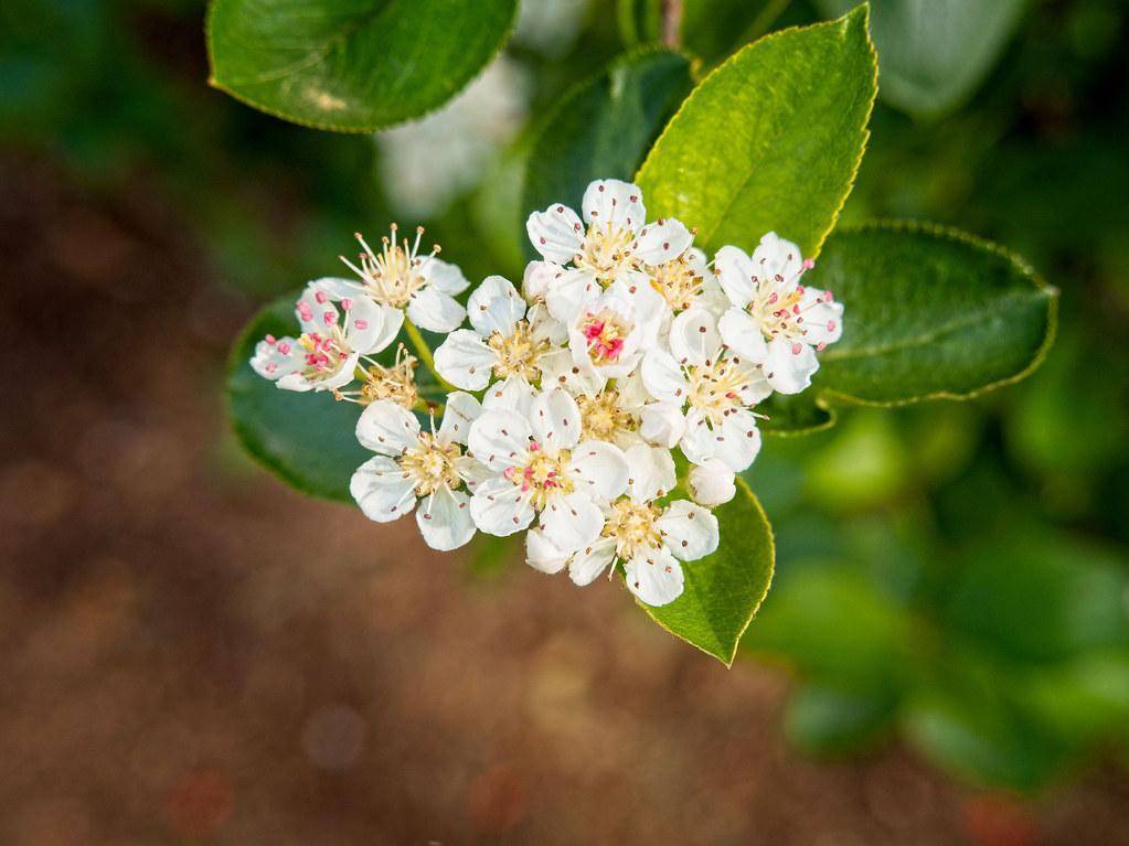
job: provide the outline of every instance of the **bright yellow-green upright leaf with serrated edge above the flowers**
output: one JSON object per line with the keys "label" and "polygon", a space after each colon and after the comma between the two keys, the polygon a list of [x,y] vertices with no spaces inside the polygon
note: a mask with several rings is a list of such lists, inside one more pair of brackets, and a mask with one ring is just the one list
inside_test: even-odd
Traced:
{"label": "bright yellow-green upright leaf with serrated edge above the flowers", "polygon": [[866,8],[736,53],[690,95],[637,180],[648,217],[697,244],[751,249],[774,230],[815,255],[866,146],[877,63]]}

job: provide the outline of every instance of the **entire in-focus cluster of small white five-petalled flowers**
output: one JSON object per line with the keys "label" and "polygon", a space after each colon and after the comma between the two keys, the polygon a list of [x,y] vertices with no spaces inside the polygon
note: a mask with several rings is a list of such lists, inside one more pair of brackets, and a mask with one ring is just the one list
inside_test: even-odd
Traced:
{"label": "entire in-focus cluster of small white five-petalled flowers", "polygon": [[[376,455],[351,491],[370,519],[414,509],[436,549],[476,530],[526,531],[533,567],[583,585],[622,565],[632,593],[665,605],[682,593],[681,562],[717,549],[710,508],[760,450],[756,404],[811,384],[842,306],[800,284],[812,262],[773,232],[751,256],[729,246],[708,262],[677,220],[645,221],[638,187],[594,182],[581,215],[552,205],[530,217],[544,261],[520,293],[489,276],[465,309],[462,272],[393,227],[379,253],[360,239],[359,265],[347,262],[359,282],[312,282],[296,308],[301,336],[266,337],[252,365],[281,388],[366,406],[357,438]],[[420,399],[403,349],[392,367],[370,358],[405,309],[410,335],[447,335],[434,359],[453,388],[441,408]],[[431,412],[430,426],[415,411]],[[692,500],[672,497],[675,448]]]}

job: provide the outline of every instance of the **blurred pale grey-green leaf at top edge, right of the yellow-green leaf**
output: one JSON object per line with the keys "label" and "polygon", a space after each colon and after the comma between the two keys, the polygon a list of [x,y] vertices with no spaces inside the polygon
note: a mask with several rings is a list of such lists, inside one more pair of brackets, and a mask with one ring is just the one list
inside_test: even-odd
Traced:
{"label": "blurred pale grey-green leaf at top edge, right of the yellow-green leaf", "polygon": [[[857,0],[820,0],[828,17]],[[870,0],[882,97],[918,116],[960,105],[1007,44],[1026,0]]]}

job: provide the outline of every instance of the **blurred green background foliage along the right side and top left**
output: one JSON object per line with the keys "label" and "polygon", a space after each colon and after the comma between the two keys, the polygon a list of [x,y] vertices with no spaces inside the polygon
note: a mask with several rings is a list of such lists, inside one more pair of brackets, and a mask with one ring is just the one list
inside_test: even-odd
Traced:
{"label": "blurred green background foliage along the right side and top left", "polygon": [[[715,63],[819,6],[719,0],[711,18],[688,0],[684,35]],[[265,299],[333,272],[352,231],[392,215],[367,139],[207,87],[202,19],[191,0],[3,3],[0,146],[91,192],[161,192],[210,273]],[[513,49],[534,122],[622,50],[620,24],[589,15],[559,56]],[[1102,755],[1129,761],[1127,36],[1118,0],[1030,2],[956,112],[874,114],[843,220],[1007,244],[1061,290],[1061,337],[1030,380],[969,404],[839,408],[834,429],[767,441],[749,478],[777,584],[743,649],[795,671],[785,729],[807,749],[899,733],[973,783],[1029,792]],[[471,279],[520,272],[530,138],[429,222]]]}

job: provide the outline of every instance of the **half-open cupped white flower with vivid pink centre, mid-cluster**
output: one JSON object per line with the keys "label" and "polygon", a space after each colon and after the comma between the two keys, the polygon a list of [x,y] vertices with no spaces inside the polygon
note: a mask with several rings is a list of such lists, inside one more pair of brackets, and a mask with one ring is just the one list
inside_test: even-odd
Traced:
{"label": "half-open cupped white flower with vivid pink centre, mid-cluster", "polygon": [[606,379],[621,379],[658,343],[662,319],[658,297],[631,296],[624,283],[616,282],[581,306],[569,323],[572,360]]}

